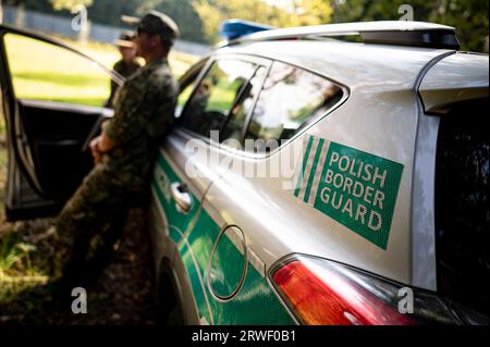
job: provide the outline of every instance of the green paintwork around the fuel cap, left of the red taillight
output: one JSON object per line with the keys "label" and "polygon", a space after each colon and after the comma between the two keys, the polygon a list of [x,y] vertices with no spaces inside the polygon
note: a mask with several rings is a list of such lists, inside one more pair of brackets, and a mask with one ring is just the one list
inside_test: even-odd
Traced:
{"label": "green paintwork around the fuel cap, left of the red taillight", "polygon": [[[274,294],[267,278],[248,264],[245,281],[240,292],[231,300],[222,301],[213,297],[207,285],[207,269],[211,260],[211,250],[220,234],[221,226],[203,209],[199,220],[187,236],[186,243],[181,244],[179,252],[187,270],[194,297],[199,314],[217,325],[286,325],[295,324],[289,311]],[[228,238],[226,238],[228,239]],[[230,241],[233,256],[223,255],[218,272],[229,273],[235,269],[243,269],[243,255]],[[218,263],[215,263],[218,265]],[[238,271],[240,272],[240,271]],[[240,274],[240,273],[238,273]],[[210,274],[213,275],[213,274]],[[203,280],[203,282],[199,281]],[[226,278],[232,281],[232,278]],[[212,320],[211,320],[212,317]]]}

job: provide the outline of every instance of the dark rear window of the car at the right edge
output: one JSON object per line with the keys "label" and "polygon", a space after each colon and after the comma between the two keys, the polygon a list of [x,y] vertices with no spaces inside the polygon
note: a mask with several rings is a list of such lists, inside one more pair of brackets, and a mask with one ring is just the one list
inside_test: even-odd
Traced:
{"label": "dark rear window of the car at the right edge", "polygon": [[488,99],[441,117],[436,169],[438,289],[489,314]]}

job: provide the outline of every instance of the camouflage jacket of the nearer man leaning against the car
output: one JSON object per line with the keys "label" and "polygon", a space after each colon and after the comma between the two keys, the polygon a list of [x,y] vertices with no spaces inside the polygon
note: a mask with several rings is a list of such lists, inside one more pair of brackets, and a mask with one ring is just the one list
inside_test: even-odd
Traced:
{"label": "camouflage jacket of the nearer man leaning against the car", "polygon": [[114,117],[103,132],[115,148],[102,158],[105,170],[132,190],[145,188],[158,145],[172,125],[179,86],[167,59],[157,59],[133,74],[114,98]]}

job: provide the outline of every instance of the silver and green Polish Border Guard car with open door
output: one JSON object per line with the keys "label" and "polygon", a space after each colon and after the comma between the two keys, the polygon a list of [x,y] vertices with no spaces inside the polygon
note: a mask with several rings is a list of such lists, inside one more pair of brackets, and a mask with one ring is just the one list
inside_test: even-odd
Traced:
{"label": "silver and green Polish Border Guard car with open door", "polygon": [[[222,34],[181,78],[155,164],[166,320],[488,323],[488,55],[420,22],[231,21]],[[77,150],[107,111],[10,85],[2,74],[8,215],[46,214],[79,182]]]}

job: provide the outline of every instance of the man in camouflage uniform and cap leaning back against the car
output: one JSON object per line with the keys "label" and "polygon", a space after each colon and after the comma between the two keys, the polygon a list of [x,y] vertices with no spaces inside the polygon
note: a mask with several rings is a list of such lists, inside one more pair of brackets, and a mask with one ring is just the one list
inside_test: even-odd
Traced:
{"label": "man in camouflage uniform and cap leaning back against the car", "polygon": [[94,239],[126,215],[131,199],[149,191],[158,145],[172,124],[179,92],[167,61],[177,35],[176,24],[156,11],[138,24],[136,45],[146,65],[118,90],[114,117],[90,142],[96,166],[58,218],[57,231],[69,243],[59,259],[63,287],[94,280],[94,269],[86,267]]}

